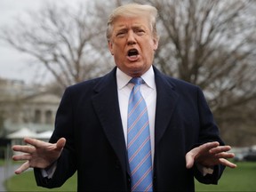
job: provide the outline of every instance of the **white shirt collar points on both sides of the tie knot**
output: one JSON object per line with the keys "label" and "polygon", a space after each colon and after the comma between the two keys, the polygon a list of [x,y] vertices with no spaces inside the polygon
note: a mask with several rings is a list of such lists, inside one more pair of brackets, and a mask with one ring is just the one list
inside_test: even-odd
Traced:
{"label": "white shirt collar points on both sides of the tie knot", "polygon": [[[148,85],[148,87],[155,89],[155,75],[153,67],[151,66],[148,71],[141,76],[144,82]],[[118,90],[123,89],[126,84],[132,79],[131,76],[127,76],[123,71],[119,68],[116,69],[116,83]]]}

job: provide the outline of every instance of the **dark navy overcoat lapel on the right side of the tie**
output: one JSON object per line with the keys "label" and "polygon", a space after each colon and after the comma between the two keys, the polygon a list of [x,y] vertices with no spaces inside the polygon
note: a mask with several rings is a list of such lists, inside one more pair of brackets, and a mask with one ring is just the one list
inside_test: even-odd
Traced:
{"label": "dark navy overcoat lapel on the right side of the tie", "polygon": [[155,145],[157,146],[171,121],[179,95],[174,90],[174,84],[167,81],[166,76],[161,74],[156,68],[154,68],[154,71],[156,80]]}

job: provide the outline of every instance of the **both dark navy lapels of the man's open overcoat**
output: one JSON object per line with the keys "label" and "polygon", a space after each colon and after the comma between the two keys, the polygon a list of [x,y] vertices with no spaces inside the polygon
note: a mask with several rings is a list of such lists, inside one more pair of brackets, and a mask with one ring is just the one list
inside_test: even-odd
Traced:
{"label": "both dark navy lapels of the man's open overcoat", "polygon": [[[167,81],[167,77],[156,68],[154,71],[156,79],[155,145],[157,145],[171,120],[179,95],[174,91],[174,85]],[[116,68],[100,79],[99,84],[95,85],[94,91],[92,104],[99,116],[100,124],[116,152],[122,169],[124,172],[129,172],[124,131],[118,105]]]}

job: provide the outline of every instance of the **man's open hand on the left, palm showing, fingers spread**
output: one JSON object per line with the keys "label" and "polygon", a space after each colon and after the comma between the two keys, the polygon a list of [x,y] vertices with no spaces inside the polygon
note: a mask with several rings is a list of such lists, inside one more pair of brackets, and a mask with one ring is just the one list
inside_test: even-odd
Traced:
{"label": "man's open hand on the left, palm showing, fingers spread", "polygon": [[54,144],[32,138],[24,138],[24,141],[29,145],[15,145],[12,147],[12,150],[22,152],[21,155],[12,156],[12,159],[14,161],[26,161],[15,171],[16,174],[28,170],[29,167],[46,168],[60,157],[66,144],[65,138],[60,138]]}

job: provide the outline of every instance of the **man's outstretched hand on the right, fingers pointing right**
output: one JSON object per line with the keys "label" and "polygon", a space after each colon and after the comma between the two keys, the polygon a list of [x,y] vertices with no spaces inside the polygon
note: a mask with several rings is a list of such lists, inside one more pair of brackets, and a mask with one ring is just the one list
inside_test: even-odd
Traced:
{"label": "man's outstretched hand on the right, fingers pointing right", "polygon": [[236,168],[236,164],[227,160],[227,158],[233,158],[235,156],[233,153],[228,152],[230,149],[230,146],[220,146],[220,143],[217,141],[204,143],[188,151],[186,154],[186,166],[190,169],[194,163],[201,164],[205,167],[223,164],[230,168]]}

